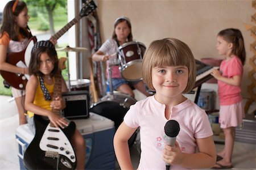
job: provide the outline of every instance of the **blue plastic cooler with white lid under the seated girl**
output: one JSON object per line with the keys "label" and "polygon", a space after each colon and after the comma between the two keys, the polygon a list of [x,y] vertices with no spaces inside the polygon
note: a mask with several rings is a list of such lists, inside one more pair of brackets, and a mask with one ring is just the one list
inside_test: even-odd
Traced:
{"label": "blue plastic cooler with white lid under the seated girl", "polygon": [[[115,169],[114,122],[95,113],[90,113],[89,118],[72,121],[76,122],[76,127],[86,142],[85,169]],[[16,129],[20,169],[26,169],[23,155],[33,138],[27,124]]]}

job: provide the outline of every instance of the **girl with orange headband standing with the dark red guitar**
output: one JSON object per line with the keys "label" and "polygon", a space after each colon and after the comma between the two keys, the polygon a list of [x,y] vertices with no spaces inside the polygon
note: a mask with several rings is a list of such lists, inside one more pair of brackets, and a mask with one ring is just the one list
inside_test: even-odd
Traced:
{"label": "girl with orange headband standing with the dark red guitar", "polygon": [[[21,52],[27,46],[32,37],[28,28],[28,9],[25,2],[10,1],[3,10],[3,21],[0,29],[0,70],[17,74],[28,74],[27,68],[17,67],[6,62],[7,53]],[[56,40],[51,37],[51,42],[56,44]],[[16,57],[16,56],[15,56]],[[17,56],[18,57],[18,56]],[[11,92],[15,98],[15,103],[19,112],[19,124],[26,124],[26,113],[24,100],[26,92],[12,88]]]}

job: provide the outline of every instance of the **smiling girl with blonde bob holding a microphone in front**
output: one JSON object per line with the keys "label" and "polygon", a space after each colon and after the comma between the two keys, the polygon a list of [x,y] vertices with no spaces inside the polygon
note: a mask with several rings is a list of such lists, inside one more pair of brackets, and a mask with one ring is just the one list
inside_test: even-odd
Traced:
{"label": "smiling girl with blonde bob holding a microphone in front", "polygon": [[[154,96],[131,105],[114,136],[121,169],[134,169],[128,139],[139,128],[141,156],[137,169],[210,168],[216,162],[213,132],[205,111],[183,94],[192,90],[196,63],[188,45],[177,39],[151,42],[142,62],[143,81]],[[175,147],[166,145],[164,126],[179,122]]]}

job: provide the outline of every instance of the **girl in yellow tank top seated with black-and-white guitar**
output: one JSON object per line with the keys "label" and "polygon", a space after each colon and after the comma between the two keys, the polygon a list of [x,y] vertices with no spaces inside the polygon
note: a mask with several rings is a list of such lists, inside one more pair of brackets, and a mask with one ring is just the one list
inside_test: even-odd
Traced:
{"label": "girl in yellow tank top seated with black-and-white guitar", "polygon": [[[31,53],[29,66],[31,76],[26,86],[25,108],[30,113],[48,118],[55,127],[64,128],[68,126],[67,120],[60,114],[52,112],[52,109],[65,108],[65,101],[61,97],[52,99],[53,88],[58,83],[55,78],[59,70],[58,63],[55,47],[50,41],[36,42]],[[61,92],[67,91],[67,85],[62,76],[60,82]],[[85,141],[79,130],[75,129],[71,143],[77,156],[76,169],[84,169]]]}

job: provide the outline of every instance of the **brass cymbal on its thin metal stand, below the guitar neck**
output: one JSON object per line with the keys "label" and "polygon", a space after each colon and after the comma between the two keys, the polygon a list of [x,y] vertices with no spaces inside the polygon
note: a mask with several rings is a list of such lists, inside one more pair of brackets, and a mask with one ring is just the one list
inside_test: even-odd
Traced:
{"label": "brass cymbal on its thin metal stand, below the guitar neck", "polygon": [[70,82],[70,74],[69,74],[69,61],[68,61],[68,52],[86,52],[88,49],[84,47],[75,47],[72,48],[70,46],[66,46],[64,48],[58,48],[57,51],[62,51],[67,53],[67,74],[68,74],[68,91],[71,91],[71,82]]}

